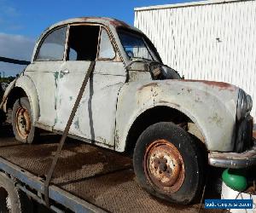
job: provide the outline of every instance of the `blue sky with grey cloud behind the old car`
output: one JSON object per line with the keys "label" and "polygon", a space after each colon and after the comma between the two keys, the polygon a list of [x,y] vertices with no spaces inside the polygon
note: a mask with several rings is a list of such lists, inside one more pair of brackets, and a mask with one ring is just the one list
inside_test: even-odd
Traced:
{"label": "blue sky with grey cloud behind the old car", "polygon": [[[190,0],[0,0],[0,56],[30,60],[35,41],[48,26],[82,16],[105,16],[133,25],[134,8],[193,2]],[[15,75],[25,66],[0,62],[3,76]]]}

